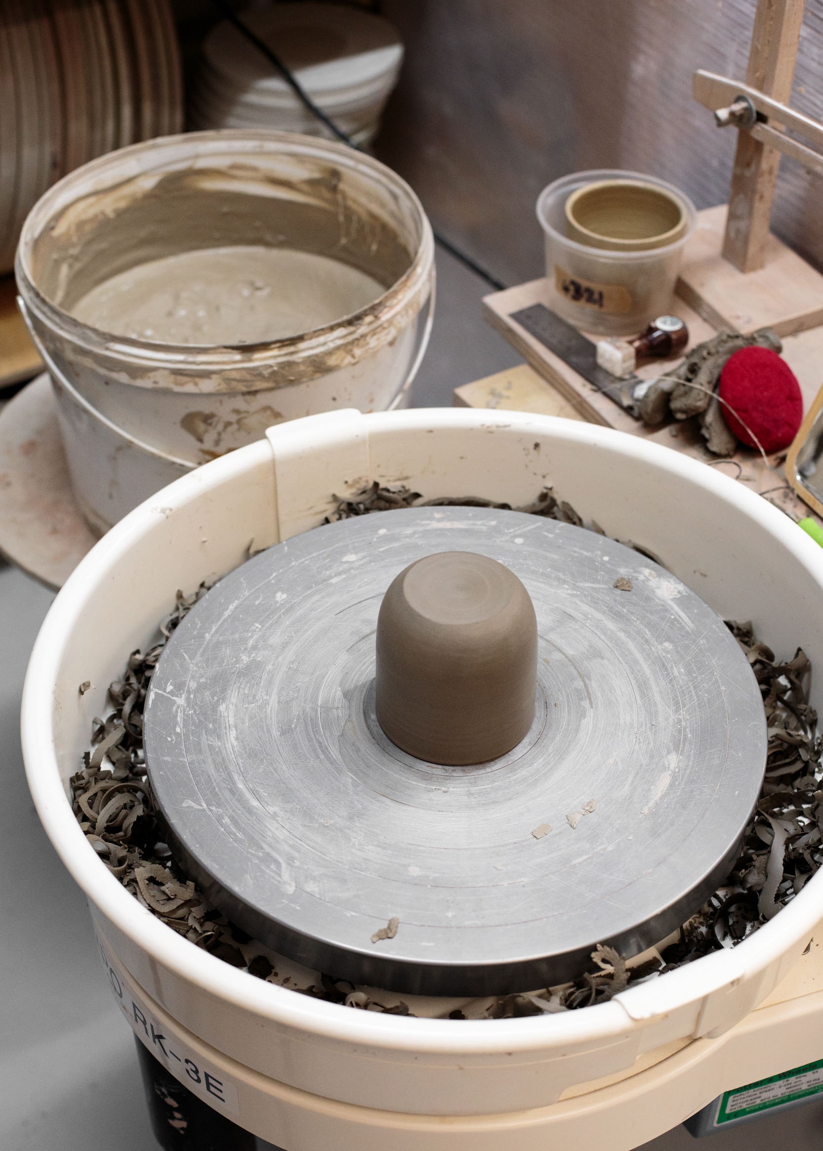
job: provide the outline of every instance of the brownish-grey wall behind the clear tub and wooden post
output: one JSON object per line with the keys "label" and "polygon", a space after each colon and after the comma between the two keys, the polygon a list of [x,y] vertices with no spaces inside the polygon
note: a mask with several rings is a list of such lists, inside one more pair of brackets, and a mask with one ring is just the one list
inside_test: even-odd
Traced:
{"label": "brownish-grey wall behind the clear tub and wooden post", "polygon": [[[755,0],[384,0],[406,63],[378,154],[506,283],[542,274],[538,193],[633,168],[725,201],[736,132],[692,99],[742,79]],[[823,0],[807,0],[792,104],[823,119]],[[783,159],[772,230],[823,268],[823,180]]]}

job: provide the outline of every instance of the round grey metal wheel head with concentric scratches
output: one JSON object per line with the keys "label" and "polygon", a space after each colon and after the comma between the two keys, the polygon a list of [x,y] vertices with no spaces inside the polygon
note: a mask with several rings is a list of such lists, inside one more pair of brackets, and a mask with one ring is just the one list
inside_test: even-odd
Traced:
{"label": "round grey metal wheel head with concentric scratches", "polygon": [[[448,550],[508,565],[538,618],[534,723],[474,767],[414,760],[374,717],[383,593]],[[637,954],[696,910],[767,732],[737,641],[664,569],[566,524],[429,508],[306,532],[221,580],[160,658],[145,746],[175,854],[246,931],[353,982],[487,994],[574,976],[601,942]]]}

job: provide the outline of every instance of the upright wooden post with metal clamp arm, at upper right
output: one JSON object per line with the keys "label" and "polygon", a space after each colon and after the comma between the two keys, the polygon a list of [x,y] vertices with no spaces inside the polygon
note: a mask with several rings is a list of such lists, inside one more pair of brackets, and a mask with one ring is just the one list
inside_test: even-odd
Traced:
{"label": "upright wooden post with metal clamp arm, at upper right", "polygon": [[[757,0],[746,83],[788,104],[803,20],[803,0]],[[780,153],[738,132],[723,256],[740,272],[765,261]]]}

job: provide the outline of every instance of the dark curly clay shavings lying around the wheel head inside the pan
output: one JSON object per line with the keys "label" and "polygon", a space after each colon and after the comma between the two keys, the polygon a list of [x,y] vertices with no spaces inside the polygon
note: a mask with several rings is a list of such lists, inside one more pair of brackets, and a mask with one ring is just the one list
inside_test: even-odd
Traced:
{"label": "dark curly clay shavings lying around the wheel head inside the pan", "polygon": [[[510,510],[509,504],[475,497],[443,497],[425,503],[419,500],[407,488],[381,488],[375,482],[351,500],[340,500],[332,518],[411,506]],[[596,524],[585,525],[574,509],[558,501],[551,489],[517,510],[604,534]],[[207,590],[203,584],[192,595],[177,592],[174,611],[160,625],[160,641],[145,654],[132,651],[122,680],[109,686],[114,710],[105,721],[94,719],[93,752],[85,753],[83,769],[71,778],[74,811],[81,828],[135,899],[196,946],[259,978],[282,985],[291,983],[292,990],[303,994],[389,1014],[412,1014],[403,1003],[384,1007],[351,983],[333,976],[321,975],[319,984],[308,986],[298,986],[288,977],[279,978],[266,955],[250,954],[258,950],[251,937],[211,907],[172,859],[146,778],[143,708],[163,646]],[[749,623],[730,623],[729,627],[760,684],[769,730],[763,788],[729,879],[684,924],[679,939],[663,952],[660,962],[653,961],[650,971],[649,965],[627,969],[612,947],[599,946],[592,955],[593,970],[574,983],[498,997],[486,1007],[483,1017],[539,1015],[603,1003],[632,982],[654,978],[721,947],[733,947],[793,899],[823,862],[822,747],[816,733],[817,714],[808,702],[809,661],[798,649],[788,663],[778,663],[775,654],[757,642]],[[81,691],[85,687],[82,685]],[[106,759],[111,768],[104,767]],[[450,1017],[465,1015],[455,1011]]]}

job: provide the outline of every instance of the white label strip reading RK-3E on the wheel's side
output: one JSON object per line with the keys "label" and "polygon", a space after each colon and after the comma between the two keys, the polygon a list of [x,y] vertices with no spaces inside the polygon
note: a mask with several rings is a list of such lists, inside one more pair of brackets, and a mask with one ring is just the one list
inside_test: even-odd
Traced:
{"label": "white label strip reading RK-3E on the wheel's side", "polygon": [[[239,1115],[237,1088],[224,1072],[204,1059],[177,1036],[166,1035],[151,1007],[98,936],[100,955],[117,1006],[131,1030],[157,1060],[204,1103],[226,1115]],[[276,1151],[276,1149],[275,1149]]]}

